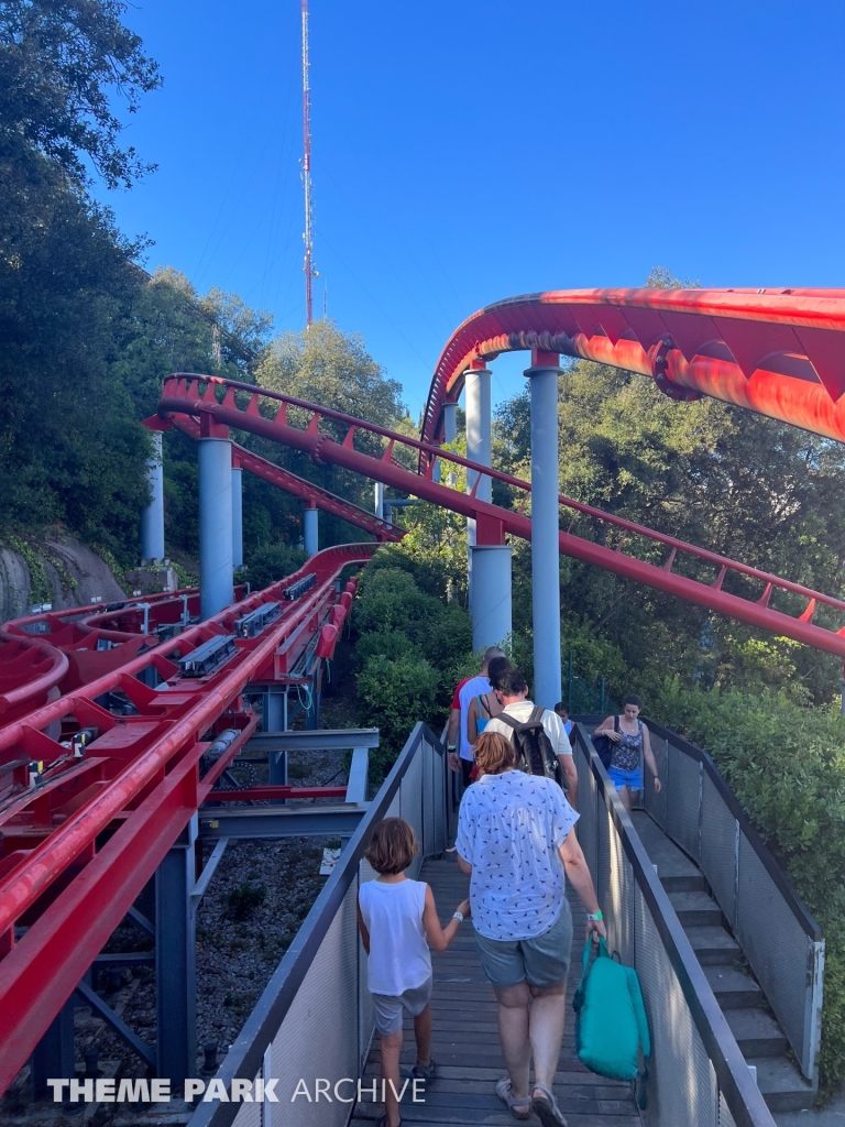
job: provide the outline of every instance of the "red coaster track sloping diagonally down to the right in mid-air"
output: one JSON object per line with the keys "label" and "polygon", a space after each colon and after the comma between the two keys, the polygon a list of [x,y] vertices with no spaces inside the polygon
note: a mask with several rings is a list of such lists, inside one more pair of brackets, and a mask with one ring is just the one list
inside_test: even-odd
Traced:
{"label": "red coaster track sloping diagonally down to the right in mid-air", "polygon": [[[225,389],[222,401],[217,401],[215,388]],[[239,399],[237,392],[246,392],[247,396]],[[263,400],[272,400],[278,405],[274,417],[267,417],[266,414],[261,412]],[[287,408],[291,406],[311,412],[305,429],[290,424]],[[265,407],[265,411],[267,407]],[[505,533],[512,533],[524,540],[531,539],[531,521],[527,517],[479,500],[474,492],[459,492],[448,486],[439,485],[433,480],[433,472],[436,459],[442,458],[465,469],[475,470],[479,474],[477,480],[487,474],[523,491],[530,491],[528,482],[471,462],[448,451],[443,451],[432,443],[394,434],[384,427],[354,419],[330,408],[308,403],[279,392],[257,389],[251,384],[223,380],[219,376],[172,375],[164,381],[159,411],[162,416],[168,416],[170,412],[193,416],[207,412],[217,423],[225,426],[249,431],[283,445],[305,451],[318,462],[344,465],[374,478],[376,481],[394,486],[464,516],[473,517],[478,522],[479,543],[500,543]],[[347,427],[341,442],[337,442],[331,435],[320,431],[320,423],[323,419],[332,424],[340,423]],[[385,449],[381,458],[355,449],[357,431],[365,431],[385,440]],[[425,473],[413,473],[397,462],[394,450],[398,445],[408,446],[418,455],[422,455],[426,464]],[[812,591],[802,584],[782,579],[780,576],[762,571],[758,568],[748,567],[717,552],[706,551],[706,549],[655,532],[610,513],[603,513],[592,506],[581,505],[568,497],[561,497],[560,503],[576,513],[603,521],[623,531],[622,541],[615,549],[586,540],[572,532],[561,532],[560,551],[564,556],[593,564],[623,578],[633,579],[750,625],[793,638],[795,641],[845,658],[845,636],[843,632],[836,632],[812,622],[819,604],[836,611],[845,611],[845,601]],[[626,554],[622,550],[624,534],[637,534],[651,543],[667,547],[669,549],[667,559],[662,565],[655,565]],[[719,569],[717,576],[712,582],[701,582],[674,571],[673,568],[678,554],[715,566]],[[729,574],[758,582],[763,588],[762,593],[757,598],[745,598],[723,591],[722,585]],[[794,618],[770,606],[772,593],[775,591],[799,595],[807,601],[800,616]]]}

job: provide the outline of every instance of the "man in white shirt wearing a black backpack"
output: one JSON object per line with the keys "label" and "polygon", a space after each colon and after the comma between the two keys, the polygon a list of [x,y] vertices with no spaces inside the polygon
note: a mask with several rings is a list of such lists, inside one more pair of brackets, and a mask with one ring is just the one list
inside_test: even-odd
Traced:
{"label": "man in white shirt wearing a black backpack", "polygon": [[499,675],[496,696],[505,708],[484,730],[498,731],[510,740],[518,771],[557,779],[567,791],[569,805],[577,809],[578,771],[560,717],[527,699],[528,685],[518,669]]}

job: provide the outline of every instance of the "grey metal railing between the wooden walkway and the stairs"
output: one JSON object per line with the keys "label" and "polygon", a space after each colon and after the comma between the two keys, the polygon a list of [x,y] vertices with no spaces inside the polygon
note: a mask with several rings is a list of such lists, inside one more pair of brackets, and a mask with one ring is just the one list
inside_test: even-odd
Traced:
{"label": "grey metal railing between the wooden walkway and the stairs", "polygon": [[774,1127],[728,1022],[584,724],[578,840],[608,944],[640,978],[651,1030],[649,1127]]}

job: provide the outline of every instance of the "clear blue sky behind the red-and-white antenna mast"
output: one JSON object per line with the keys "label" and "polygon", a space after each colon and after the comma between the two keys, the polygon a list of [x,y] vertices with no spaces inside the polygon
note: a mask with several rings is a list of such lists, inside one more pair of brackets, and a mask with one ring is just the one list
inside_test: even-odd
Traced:
{"label": "clear blue sky behind the red-and-white antenna mast", "polygon": [[[144,0],[164,76],[105,193],[148,266],[304,322],[299,0]],[[488,302],[631,286],[845,285],[845,6],[311,0],[315,307],[419,412]],[[523,357],[493,365],[521,389]]]}

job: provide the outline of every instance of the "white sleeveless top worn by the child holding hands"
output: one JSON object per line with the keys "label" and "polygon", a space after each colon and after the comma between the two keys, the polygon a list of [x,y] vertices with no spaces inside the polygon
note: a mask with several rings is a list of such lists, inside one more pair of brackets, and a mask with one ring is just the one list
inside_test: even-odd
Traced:
{"label": "white sleeveless top worn by the child holding hands", "polygon": [[398,997],[421,986],[432,975],[432,952],[422,928],[426,882],[367,880],[358,890],[358,904],[370,932],[370,993]]}

